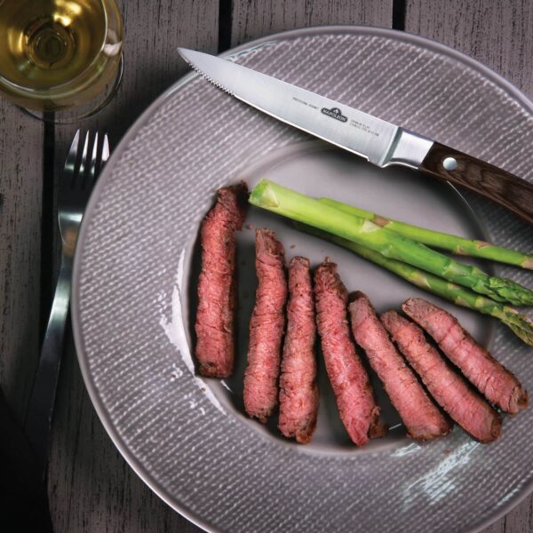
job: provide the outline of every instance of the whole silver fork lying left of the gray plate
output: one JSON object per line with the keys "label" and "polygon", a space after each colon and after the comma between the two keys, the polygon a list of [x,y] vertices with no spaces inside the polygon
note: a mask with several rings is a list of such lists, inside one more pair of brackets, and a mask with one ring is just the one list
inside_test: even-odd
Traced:
{"label": "whole silver fork lying left of the gray plate", "polygon": [[[52,426],[53,406],[60,374],[63,338],[70,301],[72,263],[76,240],[85,205],[91,195],[96,176],[107,162],[107,135],[87,131],[80,144],[80,131],[72,141],[58,191],[58,223],[61,235],[61,265],[52,301],[52,311],[46,332],[36,378],[28,404],[24,430],[36,453],[43,478],[48,464],[48,446]],[[91,156],[88,157],[91,151]]]}

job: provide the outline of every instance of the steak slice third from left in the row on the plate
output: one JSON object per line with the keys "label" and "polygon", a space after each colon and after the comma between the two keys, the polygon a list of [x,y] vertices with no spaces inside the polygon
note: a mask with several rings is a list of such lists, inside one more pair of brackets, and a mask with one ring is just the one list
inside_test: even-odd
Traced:
{"label": "steak slice third from left in the row on the plate", "polygon": [[283,344],[278,427],[286,437],[311,442],[318,413],[314,300],[309,259],[289,265],[287,333]]}

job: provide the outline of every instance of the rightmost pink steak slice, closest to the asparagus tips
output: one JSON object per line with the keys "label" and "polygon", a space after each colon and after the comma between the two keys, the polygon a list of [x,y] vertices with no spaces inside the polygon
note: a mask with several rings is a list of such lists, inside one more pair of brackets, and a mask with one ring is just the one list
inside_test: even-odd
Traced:
{"label": "rightmost pink steak slice, closest to the asparagus tips", "polygon": [[517,413],[528,405],[528,393],[513,374],[478,345],[457,318],[422,298],[410,298],[403,311],[431,335],[489,402],[501,410]]}

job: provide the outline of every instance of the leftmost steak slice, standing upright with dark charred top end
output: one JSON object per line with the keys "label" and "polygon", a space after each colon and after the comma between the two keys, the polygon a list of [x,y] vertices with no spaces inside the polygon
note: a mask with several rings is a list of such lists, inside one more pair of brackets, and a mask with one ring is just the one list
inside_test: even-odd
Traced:
{"label": "leftmost steak slice, standing upright with dark charred top end", "polygon": [[243,227],[248,189],[242,182],[218,191],[203,219],[195,356],[198,371],[227,378],[235,362],[235,231]]}

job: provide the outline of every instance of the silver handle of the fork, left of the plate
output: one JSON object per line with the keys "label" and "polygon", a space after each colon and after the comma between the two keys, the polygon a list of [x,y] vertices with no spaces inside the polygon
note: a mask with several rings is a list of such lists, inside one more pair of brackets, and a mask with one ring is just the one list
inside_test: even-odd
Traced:
{"label": "silver handle of the fork, left of the plate", "polygon": [[65,338],[72,258],[61,256],[60,274],[52,301],[52,311],[44,333],[39,366],[36,371],[28,413],[24,425],[28,441],[36,453],[43,479],[48,465],[48,447],[56,389],[60,376],[60,362]]}

